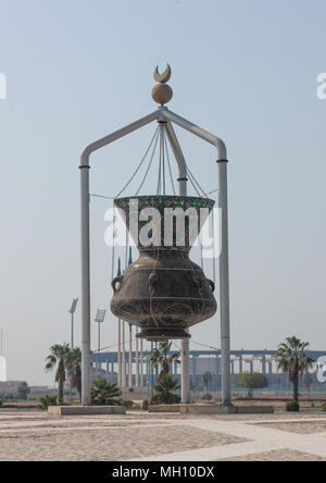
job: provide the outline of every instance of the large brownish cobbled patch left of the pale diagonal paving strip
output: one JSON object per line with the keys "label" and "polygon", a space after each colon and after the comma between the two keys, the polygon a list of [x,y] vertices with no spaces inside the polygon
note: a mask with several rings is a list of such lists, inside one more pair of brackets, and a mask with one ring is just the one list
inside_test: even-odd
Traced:
{"label": "large brownish cobbled patch left of the pale diagonal paving strip", "polygon": [[0,434],[0,460],[125,460],[241,443],[246,439],[189,426],[118,428],[55,433],[53,430]]}

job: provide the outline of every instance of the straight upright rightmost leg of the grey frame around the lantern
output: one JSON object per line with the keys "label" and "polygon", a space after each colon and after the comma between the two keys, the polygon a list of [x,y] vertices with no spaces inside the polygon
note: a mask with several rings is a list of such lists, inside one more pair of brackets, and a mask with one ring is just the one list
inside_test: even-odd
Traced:
{"label": "straight upright rightmost leg of the grey frame around the lantern", "polygon": [[220,255],[222,404],[231,405],[230,391],[230,330],[228,281],[228,220],[227,220],[227,161],[217,161],[217,188],[222,210],[222,251]]}

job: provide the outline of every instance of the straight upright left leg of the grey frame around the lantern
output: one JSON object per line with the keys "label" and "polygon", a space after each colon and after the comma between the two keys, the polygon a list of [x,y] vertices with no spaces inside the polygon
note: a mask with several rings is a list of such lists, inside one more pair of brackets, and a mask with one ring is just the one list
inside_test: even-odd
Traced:
{"label": "straight upright left leg of the grey frame around the lantern", "polygon": [[90,405],[89,166],[80,166],[82,405]]}

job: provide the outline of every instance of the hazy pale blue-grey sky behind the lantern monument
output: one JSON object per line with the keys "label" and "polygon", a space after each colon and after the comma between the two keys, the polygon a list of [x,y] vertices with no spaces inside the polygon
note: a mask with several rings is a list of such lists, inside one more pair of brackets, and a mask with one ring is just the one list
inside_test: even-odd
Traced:
{"label": "hazy pale blue-grey sky behind the lantern monument", "polygon": [[[316,97],[325,23],[325,0],[0,1],[8,81],[0,327],[9,379],[53,381],[43,360],[52,344],[70,340],[68,309],[79,297],[79,152],[155,109],[152,72],[166,61],[170,108],[228,147],[231,347],[274,349],[296,334],[326,349],[326,100]],[[154,128],[92,157],[92,193],[120,190]],[[214,189],[215,150],[188,134],[180,141],[193,174]],[[92,317],[112,295],[109,207],[91,200]],[[111,314],[102,334],[102,346],[116,344]],[[216,317],[191,334],[220,347]]]}

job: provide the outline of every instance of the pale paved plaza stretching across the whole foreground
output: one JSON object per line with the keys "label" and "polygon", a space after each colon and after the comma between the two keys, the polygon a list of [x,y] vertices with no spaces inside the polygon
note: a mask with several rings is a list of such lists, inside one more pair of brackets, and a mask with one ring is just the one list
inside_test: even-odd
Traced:
{"label": "pale paved plaza stretching across the whole foreground", "polygon": [[326,461],[326,414],[0,412],[0,461]]}

